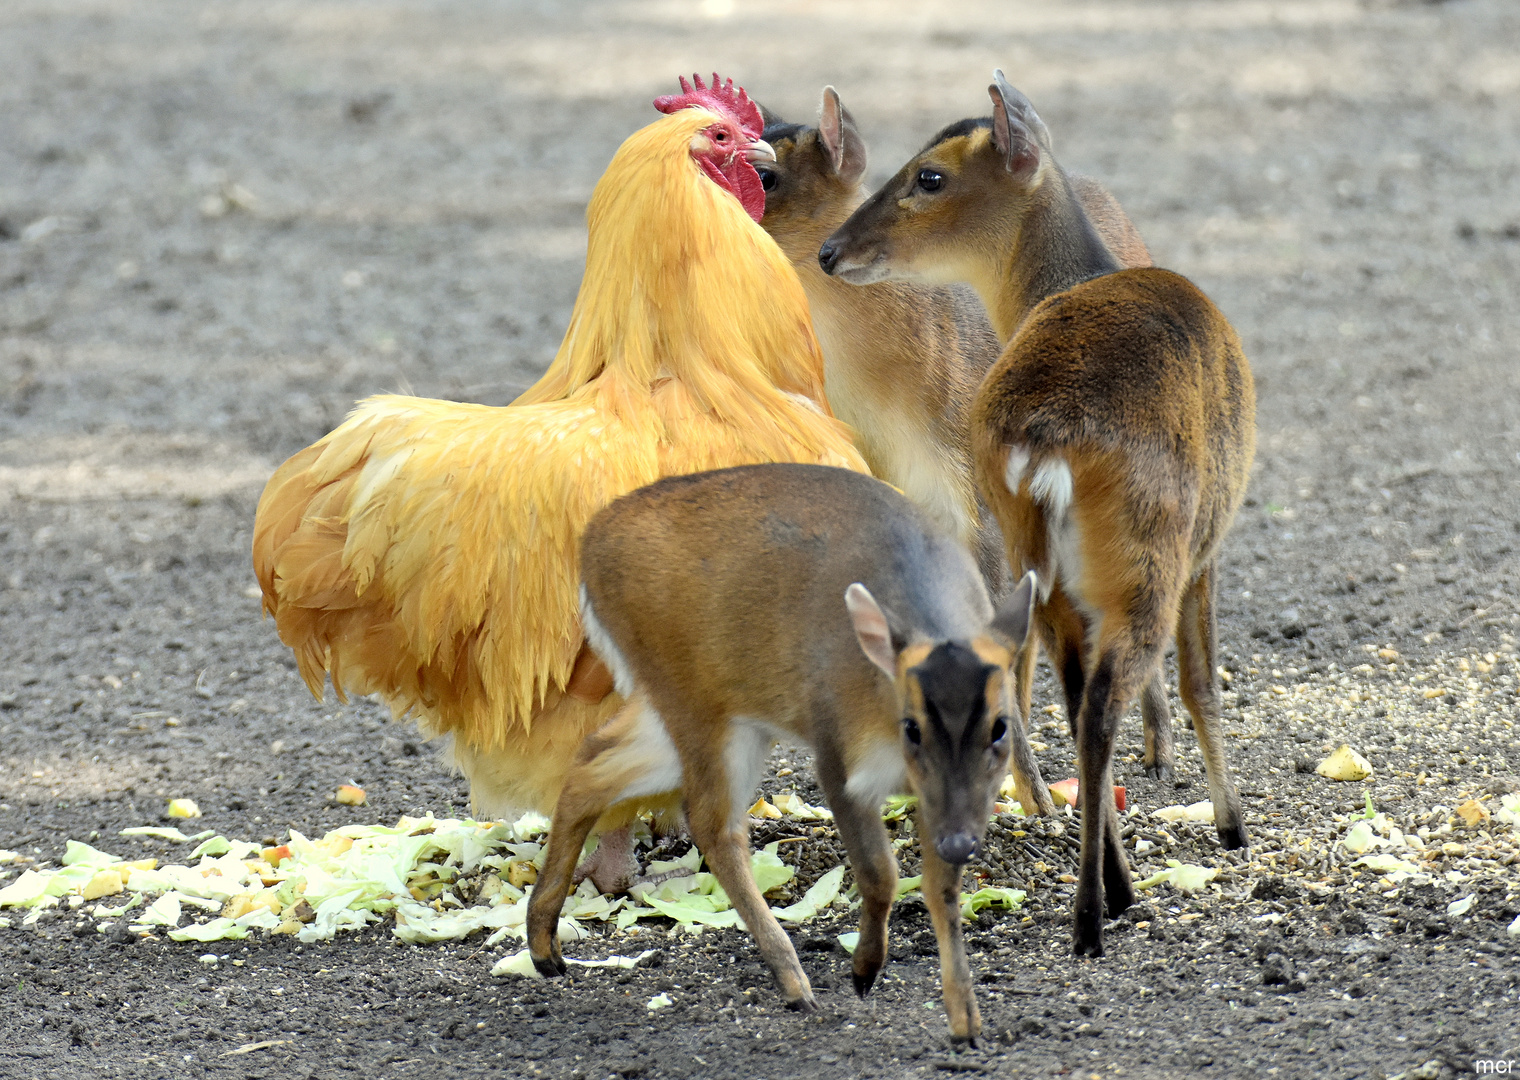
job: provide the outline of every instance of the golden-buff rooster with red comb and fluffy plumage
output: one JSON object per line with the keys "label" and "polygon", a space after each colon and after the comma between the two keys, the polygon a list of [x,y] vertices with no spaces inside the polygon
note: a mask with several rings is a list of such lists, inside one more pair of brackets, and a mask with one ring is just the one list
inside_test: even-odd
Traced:
{"label": "golden-buff rooster with red comb and fluffy plumage", "polygon": [[[581,532],[663,475],[757,462],[866,471],[824,399],[790,263],[758,226],[760,111],[733,81],[661,97],[587,211],[553,363],[505,407],[382,395],[258,500],[264,611],[318,697],[331,676],[451,735],[477,814],[550,813],[620,705],[585,646]],[[603,829],[626,826],[625,804]],[[603,837],[597,887],[637,869]]]}

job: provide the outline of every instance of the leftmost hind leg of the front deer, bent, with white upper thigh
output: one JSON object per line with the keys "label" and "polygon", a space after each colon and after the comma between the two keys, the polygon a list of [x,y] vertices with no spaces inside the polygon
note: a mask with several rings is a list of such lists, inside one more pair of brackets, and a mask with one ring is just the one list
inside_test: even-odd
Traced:
{"label": "leftmost hind leg of the front deer, bent, with white upper thigh", "polygon": [[613,804],[679,787],[679,758],[658,714],[634,696],[576,750],[555,804],[549,851],[527,899],[527,951],[544,975],[562,975],[559,908],[591,826]]}

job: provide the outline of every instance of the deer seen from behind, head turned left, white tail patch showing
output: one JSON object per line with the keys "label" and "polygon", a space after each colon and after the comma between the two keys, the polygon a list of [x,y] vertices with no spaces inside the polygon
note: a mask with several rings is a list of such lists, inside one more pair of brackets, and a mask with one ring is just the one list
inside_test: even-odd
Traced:
{"label": "deer seen from behind, head turned left, white tail patch showing", "polygon": [[[1214,668],[1219,545],[1256,444],[1240,342],[1192,283],[1122,269],[1002,71],[993,118],[945,128],[819,251],[845,281],[970,281],[1011,337],[971,413],[977,486],[1062,681],[1081,773],[1075,945],[1134,902],[1111,775],[1129,700],[1176,641],[1225,848],[1246,845]],[[1023,671],[1028,674],[1028,671]]]}

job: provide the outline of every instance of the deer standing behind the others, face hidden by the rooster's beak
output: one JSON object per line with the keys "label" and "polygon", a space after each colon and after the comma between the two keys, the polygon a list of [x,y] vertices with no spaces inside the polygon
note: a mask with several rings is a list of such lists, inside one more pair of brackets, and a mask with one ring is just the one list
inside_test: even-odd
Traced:
{"label": "deer standing behind the others, face hidden by the rooster's beak", "polygon": [[[996,331],[964,284],[880,281],[848,286],[824,273],[819,245],[866,199],[865,140],[833,87],[824,87],[816,128],[766,112],[774,163],[757,164],[769,232],[796,267],[824,349],[824,389],[834,415],[857,434],[871,471],[918,503],[977,554],[997,595],[1003,538],[974,492],[970,416],[976,387],[1011,330]],[[1151,266],[1151,252],[1117,199],[1094,179],[1070,176],[1082,210],[1122,266]],[[1031,653],[1029,664],[1035,659]],[[1020,685],[1029,715],[1031,681]],[[1142,696],[1146,772],[1172,775],[1172,723],[1160,673]],[[1026,813],[1055,813],[1038,773],[1014,781]]]}

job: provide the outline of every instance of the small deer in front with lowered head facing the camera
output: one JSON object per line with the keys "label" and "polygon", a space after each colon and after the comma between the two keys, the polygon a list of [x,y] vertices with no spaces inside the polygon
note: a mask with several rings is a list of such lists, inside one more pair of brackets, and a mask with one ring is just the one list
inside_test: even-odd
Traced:
{"label": "small deer in front with lowered head facing the camera", "polygon": [[[918,794],[923,895],[950,1031],[980,1013],[961,940],[961,867],[1009,753],[1029,753],[1014,662],[1028,576],[994,612],[970,554],[879,480],[815,465],[672,477],[602,510],[581,548],[582,614],[628,697],[576,753],[527,905],[546,975],[581,845],[625,799],[679,790],[692,838],[789,1006],[813,993],[749,873],[746,810],[772,744],[810,746],[860,889],[854,986],[886,963],[897,861],[882,801]],[[883,677],[885,676],[885,677]]]}

